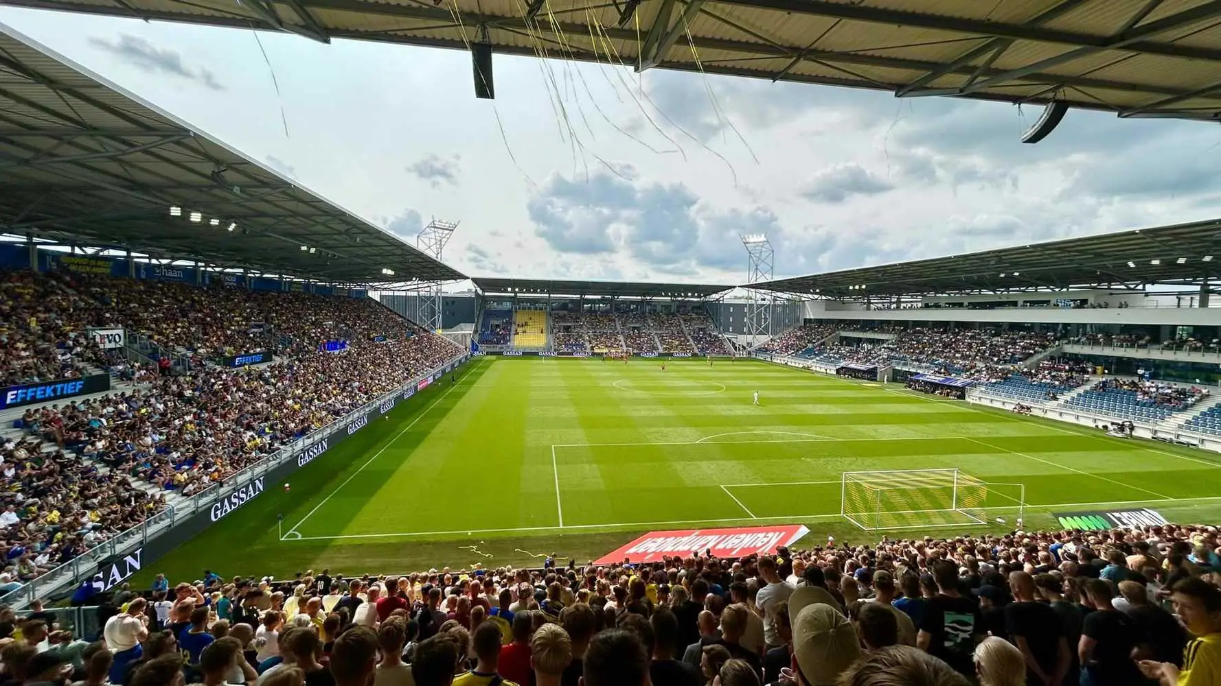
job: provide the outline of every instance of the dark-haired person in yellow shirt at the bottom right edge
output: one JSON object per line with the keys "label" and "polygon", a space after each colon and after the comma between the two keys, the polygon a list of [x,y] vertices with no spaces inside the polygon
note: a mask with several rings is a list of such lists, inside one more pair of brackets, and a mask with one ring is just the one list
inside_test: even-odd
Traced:
{"label": "dark-haired person in yellow shirt at the bottom right edge", "polygon": [[1192,632],[1183,648],[1183,666],[1140,660],[1140,671],[1160,686],[1216,686],[1221,684],[1221,588],[1200,577],[1175,585],[1175,610]]}

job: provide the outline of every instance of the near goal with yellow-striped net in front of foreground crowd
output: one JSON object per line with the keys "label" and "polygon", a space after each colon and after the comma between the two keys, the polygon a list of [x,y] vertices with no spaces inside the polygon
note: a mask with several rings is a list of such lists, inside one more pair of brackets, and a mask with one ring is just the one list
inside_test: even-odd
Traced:
{"label": "near goal with yellow-striped net in front of foreground crowd", "polygon": [[840,515],[864,531],[999,524],[1018,526],[1026,486],[957,469],[845,471]]}

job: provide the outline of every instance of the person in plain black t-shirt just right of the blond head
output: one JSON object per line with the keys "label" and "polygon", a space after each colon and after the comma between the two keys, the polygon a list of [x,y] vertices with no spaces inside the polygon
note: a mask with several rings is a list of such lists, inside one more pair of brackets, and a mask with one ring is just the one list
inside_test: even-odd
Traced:
{"label": "person in plain black t-shirt just right of the blond head", "polygon": [[1034,599],[1034,579],[1029,574],[1010,574],[1009,587],[1015,602],[1005,608],[1005,626],[1026,658],[1027,686],[1061,684],[1070,658],[1060,615]]}

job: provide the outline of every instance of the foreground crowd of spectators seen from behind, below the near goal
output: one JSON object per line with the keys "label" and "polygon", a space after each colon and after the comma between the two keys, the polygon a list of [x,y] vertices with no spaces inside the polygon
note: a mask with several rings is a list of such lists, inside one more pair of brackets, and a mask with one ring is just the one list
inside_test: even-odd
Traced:
{"label": "foreground crowd of spectators seen from behind, below the near goal", "polygon": [[209,571],[159,577],[151,602],[120,591],[104,642],[59,634],[39,662],[54,627],[0,621],[0,657],[18,684],[54,662],[133,686],[1215,686],[1219,571],[1216,530],[1177,525],[389,577]]}

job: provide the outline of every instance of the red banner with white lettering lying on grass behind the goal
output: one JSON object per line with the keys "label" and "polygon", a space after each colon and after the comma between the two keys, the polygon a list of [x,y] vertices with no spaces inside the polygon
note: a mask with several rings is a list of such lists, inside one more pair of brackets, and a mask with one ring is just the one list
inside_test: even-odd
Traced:
{"label": "red banner with white lettering lying on grass behind the goal", "polygon": [[718,558],[774,553],[780,546],[791,546],[810,533],[800,524],[785,526],[751,526],[739,529],[696,529],[687,531],[650,531],[631,543],[612,551],[593,564],[658,561],[664,555],[686,557],[712,549]]}

